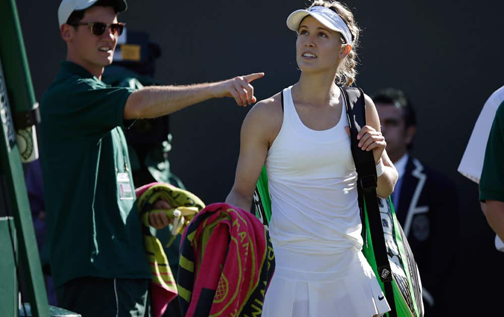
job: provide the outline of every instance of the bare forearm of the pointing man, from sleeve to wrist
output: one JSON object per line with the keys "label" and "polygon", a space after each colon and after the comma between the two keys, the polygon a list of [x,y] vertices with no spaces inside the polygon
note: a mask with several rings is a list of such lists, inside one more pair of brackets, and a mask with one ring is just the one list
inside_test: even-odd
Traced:
{"label": "bare forearm of the pointing man, from sleeve to wrist", "polygon": [[125,119],[157,118],[217,97],[218,83],[150,86],[134,91],[124,107]]}

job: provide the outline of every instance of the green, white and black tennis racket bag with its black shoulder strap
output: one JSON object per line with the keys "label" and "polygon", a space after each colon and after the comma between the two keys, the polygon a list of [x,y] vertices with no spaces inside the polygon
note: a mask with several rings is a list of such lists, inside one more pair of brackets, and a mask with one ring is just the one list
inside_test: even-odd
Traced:
{"label": "green, white and black tennis racket bag with its black shoulder strap", "polygon": [[362,219],[362,253],[378,278],[392,310],[389,317],[422,317],[422,284],[411,248],[396,218],[390,197],[376,195],[377,177],[372,151],[357,146],[357,133],[366,124],[364,93],[342,89],[350,126],[352,156]]}

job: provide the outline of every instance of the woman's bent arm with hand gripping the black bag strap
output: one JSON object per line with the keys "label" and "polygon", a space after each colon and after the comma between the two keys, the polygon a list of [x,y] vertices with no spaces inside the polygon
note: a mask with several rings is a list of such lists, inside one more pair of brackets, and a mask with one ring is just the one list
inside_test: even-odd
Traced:
{"label": "woman's bent arm with hand gripping the black bag strap", "polygon": [[378,196],[386,198],[394,191],[399,175],[385,150],[387,142],[381,132],[380,117],[376,107],[369,96],[364,95],[364,100],[366,103],[366,125],[357,134],[358,146],[362,150],[373,151],[377,170],[380,170],[380,165],[383,164],[383,174],[378,177],[376,193]]}

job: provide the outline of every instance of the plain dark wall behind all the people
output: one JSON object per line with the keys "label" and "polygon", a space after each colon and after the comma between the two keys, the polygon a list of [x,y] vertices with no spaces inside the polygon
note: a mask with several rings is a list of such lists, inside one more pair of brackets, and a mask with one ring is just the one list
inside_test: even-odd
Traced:
{"label": "plain dark wall behind all the people", "polygon": [[[161,45],[156,80],[191,84],[264,71],[254,82],[258,99],[297,81],[295,34],[287,15],[306,0],[129,1],[119,19],[144,30]],[[485,1],[348,1],[363,29],[357,85],[368,94],[402,88],[416,105],[414,154],[445,172],[459,190],[461,215],[458,281],[452,285],[453,315],[500,311],[504,254],[478,204],[478,188],[457,173],[476,118],[501,85],[501,12],[504,3]],[[59,1],[18,1],[36,98],[58,71],[65,45],[59,37]],[[174,136],[170,163],[188,190],[207,204],[225,199],[234,179],[241,121],[250,108],[232,99],[212,100],[170,116]]]}

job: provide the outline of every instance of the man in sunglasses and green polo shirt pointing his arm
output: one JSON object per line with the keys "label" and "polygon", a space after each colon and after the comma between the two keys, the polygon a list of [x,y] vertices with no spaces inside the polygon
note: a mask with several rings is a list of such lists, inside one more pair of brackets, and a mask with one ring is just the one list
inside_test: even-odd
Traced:
{"label": "man in sunglasses and green polo shirt pointing his arm", "polygon": [[[41,99],[40,151],[51,273],[58,305],[88,316],[149,316],[150,269],[123,134],[127,120],[167,115],[210,98],[256,102],[249,84],[263,73],[191,86],[110,87],[123,0],[63,0],[67,58]],[[143,184],[139,184],[143,185]],[[167,209],[157,201],[153,209]],[[155,228],[163,213],[149,216]]]}

